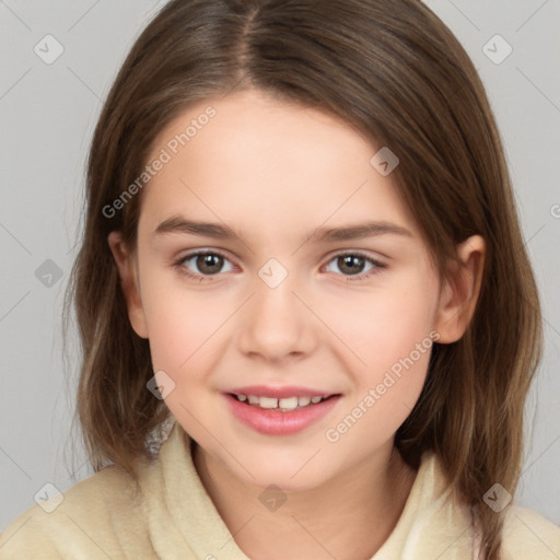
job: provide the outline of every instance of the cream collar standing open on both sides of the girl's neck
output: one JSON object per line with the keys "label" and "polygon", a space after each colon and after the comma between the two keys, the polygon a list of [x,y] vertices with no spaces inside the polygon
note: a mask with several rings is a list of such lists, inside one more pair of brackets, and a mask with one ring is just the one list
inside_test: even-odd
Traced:
{"label": "cream collar standing open on both sides of the girl's neck", "polygon": [[[177,550],[185,551],[182,558],[250,560],[202,486],[192,462],[195,444],[175,420],[159,457],[140,474],[154,550],[162,560],[177,558]],[[436,456],[424,452],[399,521],[371,560],[432,558],[438,542],[453,544],[446,560],[470,558],[470,522],[466,504],[453,502]]]}

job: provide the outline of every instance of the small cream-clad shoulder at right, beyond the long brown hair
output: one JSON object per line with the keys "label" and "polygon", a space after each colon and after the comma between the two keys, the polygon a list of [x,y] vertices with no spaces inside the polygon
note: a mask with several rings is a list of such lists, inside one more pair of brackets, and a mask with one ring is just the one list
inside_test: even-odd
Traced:
{"label": "small cream-clad shoulder at right, beyond the long brown hair", "polygon": [[558,560],[560,527],[539,513],[511,505],[505,513],[502,532],[505,558]]}

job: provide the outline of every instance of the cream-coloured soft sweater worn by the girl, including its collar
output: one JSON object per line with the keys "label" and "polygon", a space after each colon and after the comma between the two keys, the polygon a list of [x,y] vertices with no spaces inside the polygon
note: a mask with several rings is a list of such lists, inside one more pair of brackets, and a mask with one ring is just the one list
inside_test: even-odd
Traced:
{"label": "cream-coloured soft sweater worn by the girl, including its collar", "polygon": [[[0,559],[248,560],[207,494],[178,422],[159,456],[142,462],[140,489],[120,467],[105,467],[50,513],[43,508],[56,498],[14,520],[0,536]],[[425,454],[396,527],[371,560],[472,559],[470,513],[448,494]],[[560,527],[530,510],[508,508],[503,541],[504,560],[560,559]]]}

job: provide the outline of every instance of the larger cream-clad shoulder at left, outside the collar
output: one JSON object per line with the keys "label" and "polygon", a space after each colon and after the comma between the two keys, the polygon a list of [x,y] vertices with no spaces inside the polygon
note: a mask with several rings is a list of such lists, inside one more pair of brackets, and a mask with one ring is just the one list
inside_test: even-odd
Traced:
{"label": "larger cream-clad shoulder at left, outside the collar", "polygon": [[143,523],[137,485],[110,465],[19,515],[0,535],[0,560],[122,558],[121,541],[140,546]]}

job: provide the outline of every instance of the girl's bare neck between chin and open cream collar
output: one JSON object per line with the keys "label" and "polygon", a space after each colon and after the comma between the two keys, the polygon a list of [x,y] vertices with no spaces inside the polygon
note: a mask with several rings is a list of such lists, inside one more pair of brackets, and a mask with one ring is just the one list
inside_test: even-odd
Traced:
{"label": "girl's bare neck between chin and open cream collar", "polygon": [[[195,445],[202,485],[237,546],[253,560],[369,560],[402,513],[416,471],[388,442],[374,457],[324,485],[270,493],[238,480],[222,463]],[[275,499],[285,498],[279,508]]]}

